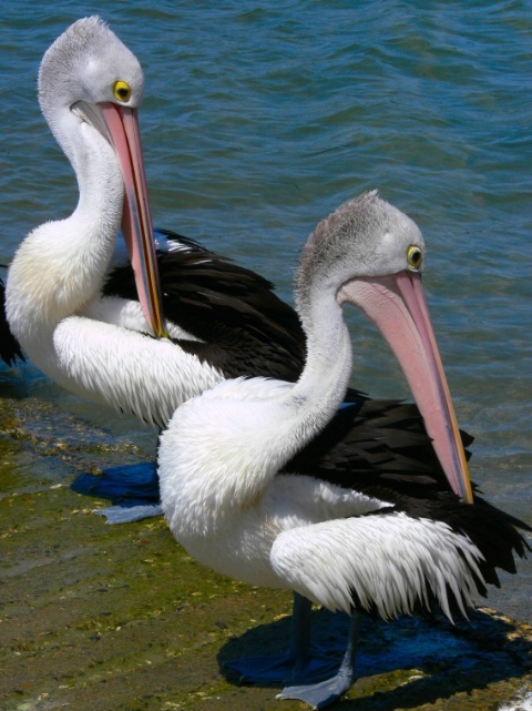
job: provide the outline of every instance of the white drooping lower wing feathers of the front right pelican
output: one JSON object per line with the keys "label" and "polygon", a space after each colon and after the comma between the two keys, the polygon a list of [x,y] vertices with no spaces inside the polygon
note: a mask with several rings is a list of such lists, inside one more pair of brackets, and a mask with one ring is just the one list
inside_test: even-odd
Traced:
{"label": "white drooping lower wing feathers of the front right pelican", "polygon": [[428,605],[431,591],[452,620],[448,588],[466,616],[475,576],[482,580],[477,546],[441,521],[402,512],[336,519],[283,532],[272,566],[294,590],[330,610],[350,611],[352,588],[361,605],[385,618]]}

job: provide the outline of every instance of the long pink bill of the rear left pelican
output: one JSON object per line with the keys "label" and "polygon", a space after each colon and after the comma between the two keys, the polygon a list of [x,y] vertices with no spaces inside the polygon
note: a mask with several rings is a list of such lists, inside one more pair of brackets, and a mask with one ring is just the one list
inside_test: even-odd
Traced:
{"label": "long pink bill of the rear left pelican", "polygon": [[144,316],[157,338],[167,337],[158,278],[152,214],[142,156],[136,109],[99,104],[111,134],[124,180],[124,234]]}

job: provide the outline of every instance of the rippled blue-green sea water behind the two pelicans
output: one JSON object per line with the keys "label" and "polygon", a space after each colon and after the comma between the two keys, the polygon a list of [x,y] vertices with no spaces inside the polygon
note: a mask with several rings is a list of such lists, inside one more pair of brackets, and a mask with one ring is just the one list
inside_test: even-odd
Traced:
{"label": "rippled blue-green sea water behind the two pelicans", "polygon": [[[155,223],[269,277],[291,278],[314,225],[378,187],[412,216],[472,477],[532,522],[530,0],[21,0],[0,26],[0,264],[33,226],[69,214],[76,185],[35,98],[39,62],[100,13],[140,58],[141,126]],[[408,397],[380,336],[350,316],[354,384]],[[0,372],[0,386],[12,374]],[[28,387],[117,437],[153,436],[64,394]],[[531,619],[531,563],[490,601]]]}

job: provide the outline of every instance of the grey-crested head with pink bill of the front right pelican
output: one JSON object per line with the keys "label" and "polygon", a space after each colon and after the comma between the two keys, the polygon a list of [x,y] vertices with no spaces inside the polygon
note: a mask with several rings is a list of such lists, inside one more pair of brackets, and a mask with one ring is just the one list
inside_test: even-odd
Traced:
{"label": "grey-crested head with pink bill of the front right pelican", "polygon": [[[421,283],[424,242],[416,223],[364,193],[323,220],[301,255],[299,313],[314,290],[359,307],[399,360],[453,491],[472,502],[469,470]],[[305,284],[313,284],[311,290]],[[338,286],[340,285],[340,286]]]}

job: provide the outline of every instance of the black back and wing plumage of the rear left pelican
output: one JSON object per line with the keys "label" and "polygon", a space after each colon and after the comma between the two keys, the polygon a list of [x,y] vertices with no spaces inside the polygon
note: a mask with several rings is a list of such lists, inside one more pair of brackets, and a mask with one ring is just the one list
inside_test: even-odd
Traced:
{"label": "black back and wing plumage of the rear left pelican", "polygon": [[[298,377],[305,334],[270,282],[170,230],[155,230],[155,244],[168,337],[176,348],[214,366],[221,379]],[[133,308],[137,296],[129,260],[112,264],[103,295]],[[139,306],[135,311],[129,327],[145,329]]]}

